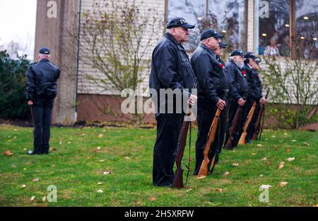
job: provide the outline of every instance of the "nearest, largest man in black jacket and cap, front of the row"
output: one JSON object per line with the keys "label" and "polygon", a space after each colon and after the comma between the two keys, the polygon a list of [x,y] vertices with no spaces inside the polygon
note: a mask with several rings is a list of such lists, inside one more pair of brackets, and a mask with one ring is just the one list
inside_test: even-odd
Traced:
{"label": "nearest, largest man in black jacket and cap, front of the row", "polygon": [[[168,32],[153,50],[149,87],[157,92],[155,102],[157,113],[157,138],[153,149],[153,185],[171,186],[174,172],[175,152],[184,113],[177,113],[175,98],[161,100],[160,89],[179,89],[181,96],[192,106],[196,96],[191,94],[195,76],[189,57],[182,42],[189,40],[189,29],[194,26],[184,18],[172,18],[168,23]],[[185,89],[188,89],[185,90]],[[152,95],[153,97],[153,95]],[[172,100],[172,101],[171,101]],[[167,113],[168,106],[173,106],[173,113]]]}

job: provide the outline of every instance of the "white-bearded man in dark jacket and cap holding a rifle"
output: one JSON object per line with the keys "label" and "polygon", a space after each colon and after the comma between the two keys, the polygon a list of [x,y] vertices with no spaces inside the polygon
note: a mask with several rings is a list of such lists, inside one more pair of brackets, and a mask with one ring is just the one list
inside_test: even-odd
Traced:
{"label": "white-bearded man in dark jacket and cap holding a rifle", "polygon": [[[244,54],[242,50],[234,50],[230,55],[230,60],[225,64],[228,71],[228,78],[231,84],[231,93],[228,99],[228,123],[226,125],[225,143],[228,141],[228,133],[232,126],[235,113],[239,106],[244,106],[247,99],[249,85],[244,67]],[[233,133],[234,140],[232,141],[232,148],[237,146],[242,132],[242,115],[240,117],[239,125]]]}

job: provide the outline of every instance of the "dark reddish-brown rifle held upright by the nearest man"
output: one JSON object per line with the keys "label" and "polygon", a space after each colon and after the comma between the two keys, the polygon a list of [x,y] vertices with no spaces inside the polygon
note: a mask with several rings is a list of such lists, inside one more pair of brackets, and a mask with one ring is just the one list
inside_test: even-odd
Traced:
{"label": "dark reddish-brown rifle held upright by the nearest man", "polygon": [[[196,83],[194,84],[194,88],[196,88]],[[192,106],[189,105],[189,108]],[[186,116],[191,115],[192,112],[187,113]],[[184,116],[185,118],[185,116]],[[187,134],[189,130],[189,125],[191,121],[184,121],[182,123],[181,131],[179,133],[179,138],[178,138],[178,145],[177,145],[177,154],[175,157],[175,164],[177,166],[177,169],[175,170],[175,176],[172,181],[172,187],[174,188],[183,188],[183,171],[184,169],[182,168],[182,157],[184,154],[184,147],[187,145]],[[191,141],[191,140],[190,140]]]}

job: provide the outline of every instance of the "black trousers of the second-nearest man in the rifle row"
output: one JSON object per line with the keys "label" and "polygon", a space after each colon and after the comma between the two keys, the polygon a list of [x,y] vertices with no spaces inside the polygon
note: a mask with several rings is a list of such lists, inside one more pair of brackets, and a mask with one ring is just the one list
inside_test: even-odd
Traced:
{"label": "black trousers of the second-nearest man in the rifle row", "polygon": [[[208,131],[211,128],[211,124],[216,115],[217,107],[211,105],[211,101],[207,101],[206,98],[199,96],[198,98],[198,138],[196,140],[196,166],[194,168],[194,175],[199,173],[202,161],[204,159],[204,149],[206,148],[206,141],[208,139]],[[211,160],[213,159],[216,152],[221,151],[224,135],[225,135],[225,124],[227,120],[227,108],[225,107],[220,114],[220,122],[216,130],[216,136],[214,142],[210,147],[208,158],[210,163],[208,164],[208,171],[210,171]]]}

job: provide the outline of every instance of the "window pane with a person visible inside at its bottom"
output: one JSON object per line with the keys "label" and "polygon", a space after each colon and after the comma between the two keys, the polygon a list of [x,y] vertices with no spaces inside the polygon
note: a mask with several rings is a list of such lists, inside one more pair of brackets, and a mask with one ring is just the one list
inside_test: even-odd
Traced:
{"label": "window pane with a person visible inside at its bottom", "polygon": [[259,55],[290,56],[289,0],[259,1]]}

